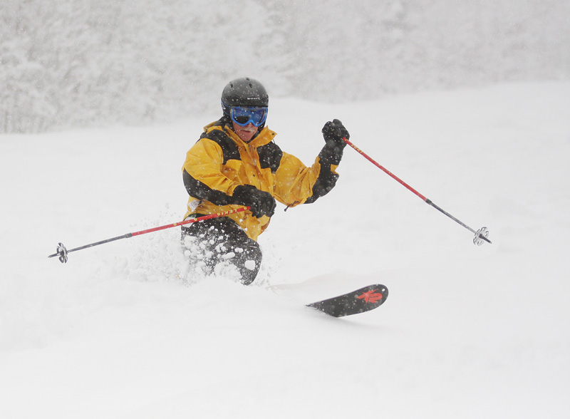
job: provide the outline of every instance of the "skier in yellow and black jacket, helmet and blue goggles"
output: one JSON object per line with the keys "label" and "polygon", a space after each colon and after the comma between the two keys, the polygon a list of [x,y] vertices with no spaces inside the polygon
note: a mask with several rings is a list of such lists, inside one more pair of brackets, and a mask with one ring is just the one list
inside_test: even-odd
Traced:
{"label": "skier in yellow and black jacket, helmet and blue goggles", "polygon": [[265,126],[269,95],[254,78],[237,78],[222,91],[222,118],[204,127],[187,152],[182,178],[190,199],[185,219],[239,207],[250,210],[182,226],[182,245],[197,269],[232,264],[243,284],[261,265],[257,238],[269,225],[276,200],[287,207],[315,202],[336,184],[336,167],[350,138],[340,120],[327,122],[326,142],[306,167],[281,151]]}

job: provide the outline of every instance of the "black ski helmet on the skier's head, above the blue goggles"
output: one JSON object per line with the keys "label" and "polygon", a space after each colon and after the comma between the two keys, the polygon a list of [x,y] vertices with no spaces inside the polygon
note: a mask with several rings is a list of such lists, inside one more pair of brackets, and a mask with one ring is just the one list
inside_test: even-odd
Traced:
{"label": "black ski helmet on the skier's head, above the blue goggles", "polygon": [[222,109],[226,115],[229,115],[229,108],[234,106],[267,108],[268,105],[267,90],[254,78],[236,78],[227,83],[222,91]]}

